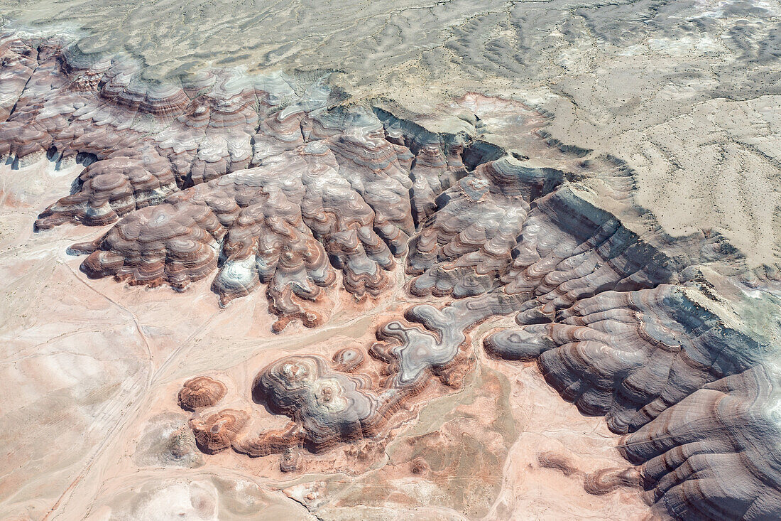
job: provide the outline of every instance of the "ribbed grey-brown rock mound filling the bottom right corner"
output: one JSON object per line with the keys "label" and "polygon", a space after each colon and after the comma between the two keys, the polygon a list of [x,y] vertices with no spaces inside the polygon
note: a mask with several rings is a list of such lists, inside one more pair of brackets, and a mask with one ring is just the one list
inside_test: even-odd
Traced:
{"label": "ribbed grey-brown rock mound filling the bottom right corner", "polygon": [[624,437],[646,500],[682,519],[781,516],[779,379],[761,365],[707,383]]}

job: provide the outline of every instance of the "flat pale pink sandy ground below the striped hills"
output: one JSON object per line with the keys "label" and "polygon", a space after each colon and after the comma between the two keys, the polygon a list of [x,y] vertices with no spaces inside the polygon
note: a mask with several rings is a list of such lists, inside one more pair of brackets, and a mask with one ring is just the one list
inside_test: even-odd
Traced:
{"label": "flat pale pink sandy ground below the striped hills", "polygon": [[[201,455],[176,403],[184,379],[216,375],[228,385],[221,406],[255,408],[259,425],[281,425],[251,404],[255,373],[304,348],[330,357],[368,347],[373,324],[397,314],[403,296],[365,310],[343,303],[322,329],[275,336],[262,293],[220,310],[209,280],[184,293],[89,280],[66,247],[98,228],[32,232],[37,211],[77,173],[45,160],[0,172],[0,511],[12,519],[647,514],[637,490],[583,490],[587,472],[626,466],[601,419],[562,402],[536,368],[486,359],[479,347],[461,390],[426,390],[380,444],[303,454],[292,473],[280,471],[279,456]],[[541,465],[543,453],[568,462],[565,470]]]}

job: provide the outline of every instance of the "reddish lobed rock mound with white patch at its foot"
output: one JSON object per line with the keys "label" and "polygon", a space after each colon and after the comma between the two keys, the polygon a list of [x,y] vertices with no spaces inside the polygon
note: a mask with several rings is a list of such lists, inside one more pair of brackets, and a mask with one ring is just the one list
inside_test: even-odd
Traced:
{"label": "reddish lobed rock mound with white patch at its foot", "polygon": [[322,319],[298,301],[317,300],[335,281],[333,266],[348,292],[379,295],[391,283],[385,272],[396,265],[388,244],[406,234],[378,221],[343,172],[325,143],[312,142],[177,192],[73,249],[92,252],[83,264],[87,274],[131,284],[184,289],[219,267],[212,288],[223,304],[264,283],[280,315],[276,327],[291,318],[312,327]]}

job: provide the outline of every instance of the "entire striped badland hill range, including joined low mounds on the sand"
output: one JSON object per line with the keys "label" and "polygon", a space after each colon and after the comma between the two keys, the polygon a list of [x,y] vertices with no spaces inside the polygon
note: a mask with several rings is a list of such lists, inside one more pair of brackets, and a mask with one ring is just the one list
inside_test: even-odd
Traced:
{"label": "entire striped badland hill range, including joined low mounds on the sand", "polygon": [[[329,292],[389,293],[398,265],[409,298],[425,297],[366,353],[262,368],[251,394],[290,418],[283,429],[214,409],[216,379],[187,380],[179,401],[201,450],[319,453],[390,436],[405,401],[434,380],[459,385],[475,326],[494,321],[475,340],[536,361],[565,400],[604,415],[660,515],[781,518],[778,324],[748,319],[772,281],[718,234],[665,235],[620,160],[530,127],[558,165],[540,167],[476,131],[340,105],[325,77],[156,85],[129,59],[14,36],[0,59],[0,156],[86,165],[37,229],[114,224],[72,247],[88,276],[185,289],[213,274],[222,304],[265,286],[276,331],[326,322]],[[381,379],[362,372],[369,360]]]}

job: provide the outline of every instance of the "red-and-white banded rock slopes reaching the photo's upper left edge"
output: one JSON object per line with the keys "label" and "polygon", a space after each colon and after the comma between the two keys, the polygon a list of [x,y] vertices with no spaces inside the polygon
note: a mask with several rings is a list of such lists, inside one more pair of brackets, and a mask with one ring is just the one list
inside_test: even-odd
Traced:
{"label": "red-and-white banded rock slopes reaching the photo's upper left edge", "polygon": [[[8,112],[0,113],[0,156],[22,166],[46,154],[62,166],[97,161],[75,193],[41,214],[38,228],[105,225],[170,192],[246,168],[255,156],[253,136],[285,141],[273,125],[258,128],[259,121],[298,99],[294,81],[282,75],[212,71],[181,84],[150,84],[133,60],[86,59],[63,41],[6,37],[0,52],[8,77],[0,94]],[[323,101],[311,95],[303,105],[314,110]]]}

